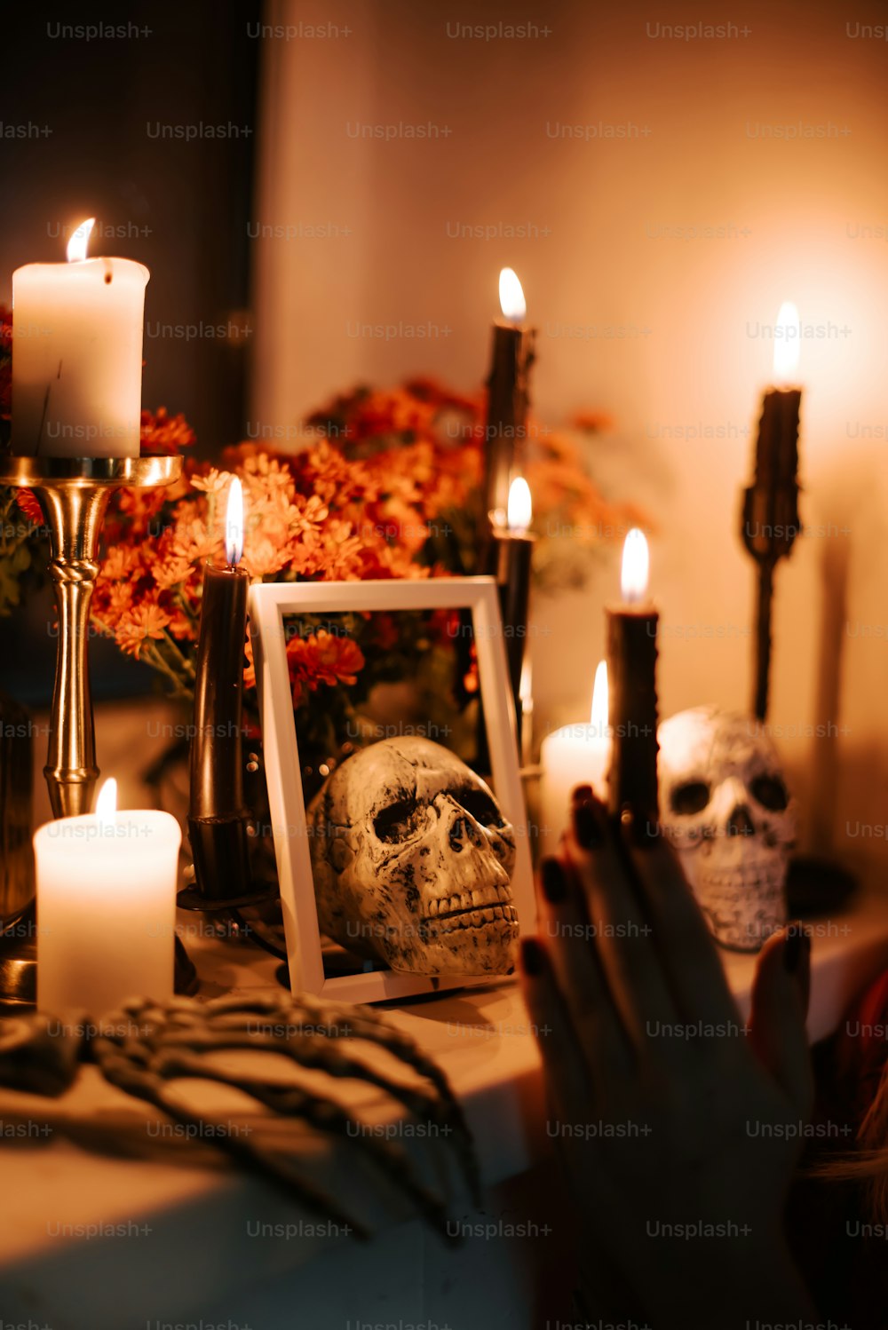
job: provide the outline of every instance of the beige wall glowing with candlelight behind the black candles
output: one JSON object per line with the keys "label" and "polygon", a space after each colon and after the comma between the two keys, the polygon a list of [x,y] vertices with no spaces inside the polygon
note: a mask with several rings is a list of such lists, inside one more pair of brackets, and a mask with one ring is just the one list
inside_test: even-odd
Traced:
{"label": "beige wall glowing with candlelight behind the black candles", "polygon": [[[651,33],[711,7],[602,8],[270,7],[271,23],[335,23],[340,35],[265,41],[255,222],[332,223],[340,234],[255,243],[253,419],[286,426],[358,378],[427,370],[477,384],[497,273],[514,266],[540,330],[540,414],[554,424],[580,407],[609,411],[615,430],[590,451],[592,471],[661,527],[651,559],[662,714],[709,700],[743,708],[752,571],[738,499],[771,372],[771,344],[750,331],[795,299],[803,322],[828,334],[804,339],[799,375],[803,517],[826,533],[799,540],[779,571],[771,720],[784,728],[808,841],[851,858],[884,854],[884,841],[847,837],[848,822],[888,822],[888,438],[860,436],[888,435],[888,243],[856,234],[888,231],[888,43],[851,36],[884,24],[884,8],[723,5],[711,21],[747,35],[693,41]],[[550,31],[448,36],[448,24],[499,21]],[[401,121],[451,133],[348,134],[355,122]],[[557,125],[598,122],[630,122],[638,136],[552,137]],[[799,124],[828,136],[759,130]],[[526,239],[448,237],[448,223],[528,222],[538,233]],[[663,226],[730,234],[683,239],[658,234]],[[350,335],[355,322],[399,321],[451,331],[425,342]],[[637,332],[569,338],[560,325]],[[727,436],[662,435],[701,423]],[[585,713],[614,583],[611,563],[584,597],[537,606],[538,716]],[[857,625],[883,636],[851,636]],[[679,636],[690,626],[722,636],[691,642]],[[826,737],[786,733],[818,725]]]}

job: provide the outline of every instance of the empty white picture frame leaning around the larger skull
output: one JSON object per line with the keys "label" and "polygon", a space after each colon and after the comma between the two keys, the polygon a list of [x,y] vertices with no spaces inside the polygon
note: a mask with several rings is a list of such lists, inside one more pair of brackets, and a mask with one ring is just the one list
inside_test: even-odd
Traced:
{"label": "empty white picture frame leaning around the larger skull", "polygon": [[512,892],[518,932],[532,932],[536,927],[533,866],[518,774],[514,704],[508,685],[500,602],[493,579],[255,584],[250,588],[249,604],[269,807],[292,992],[374,1003],[501,982],[502,976],[467,979],[407,975],[391,970],[338,976],[324,974],[284,632],[284,617],[299,613],[435,609],[471,612],[493,789],[504,815],[516,830]]}

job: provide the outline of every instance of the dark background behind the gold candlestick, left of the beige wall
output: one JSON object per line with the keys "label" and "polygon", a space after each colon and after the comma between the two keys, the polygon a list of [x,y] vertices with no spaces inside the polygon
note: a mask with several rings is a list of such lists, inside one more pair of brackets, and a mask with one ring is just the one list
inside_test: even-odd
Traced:
{"label": "dark background behind the gold candlestick, left of the beige wall", "polygon": [[[250,197],[257,152],[258,0],[4,5],[0,78],[0,301],[12,271],[62,262],[70,229],[94,215],[90,254],[138,259],[145,293],[142,406],[183,412],[197,450],[243,436]],[[124,36],[90,36],[105,24]],[[73,35],[68,29],[73,28]],[[203,137],[164,137],[202,126]],[[225,126],[225,137],[206,136]],[[24,129],[24,136],[23,136]],[[49,130],[49,132],[45,132]],[[222,336],[173,329],[222,327]],[[0,620],[0,688],[49,700],[52,597]],[[148,688],[110,642],[92,644],[97,697]]]}

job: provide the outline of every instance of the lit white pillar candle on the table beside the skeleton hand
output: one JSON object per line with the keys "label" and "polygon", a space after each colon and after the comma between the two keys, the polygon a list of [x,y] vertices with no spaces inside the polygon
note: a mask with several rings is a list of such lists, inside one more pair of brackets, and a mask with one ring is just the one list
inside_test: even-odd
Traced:
{"label": "lit white pillar candle on the table beside the skeleton hand", "polygon": [[169,813],[97,810],[35,833],[37,1005],[98,1017],[126,998],[173,996],[182,833]]}

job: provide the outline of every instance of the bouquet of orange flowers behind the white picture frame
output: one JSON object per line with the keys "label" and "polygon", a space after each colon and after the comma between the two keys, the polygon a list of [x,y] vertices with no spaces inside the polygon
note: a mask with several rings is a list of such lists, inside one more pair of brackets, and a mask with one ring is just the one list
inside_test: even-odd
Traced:
{"label": "bouquet of orange flowers behind the white picture frame", "polygon": [[[0,326],[1,322],[0,322]],[[3,391],[0,359],[0,391]],[[479,571],[484,472],[484,399],[429,379],[395,390],[358,388],[308,418],[310,444],[286,454],[262,442],[227,450],[221,466],[186,456],[167,489],[121,491],[105,523],[96,585],[94,628],[128,656],[145,661],[171,694],[194,684],[202,569],[223,559],[225,496],[233,475],[243,484],[243,567],[258,581],[433,577]],[[604,544],[638,520],[608,504],[585,473],[576,446],[533,428],[525,459],[538,515],[558,529],[601,532]],[[182,416],[142,414],[142,452],[178,454],[194,435]],[[40,535],[33,496],[0,491],[0,516],[16,504],[12,545],[0,547],[0,612],[16,602],[17,560]],[[5,505],[5,508],[4,508]],[[24,531],[24,536],[21,532]],[[540,543],[545,547],[545,541]],[[24,553],[23,553],[24,552]],[[287,642],[294,706],[319,750],[334,751],[354,706],[378,682],[396,682],[417,642],[447,645],[447,616],[343,616],[335,625],[306,616]],[[472,661],[461,662],[457,708],[473,692]],[[254,684],[247,641],[245,681]],[[255,696],[255,694],[254,694]],[[320,697],[323,706],[311,706]],[[247,692],[250,697],[250,692]],[[302,732],[300,732],[302,733]],[[351,733],[351,732],[350,732]]]}

